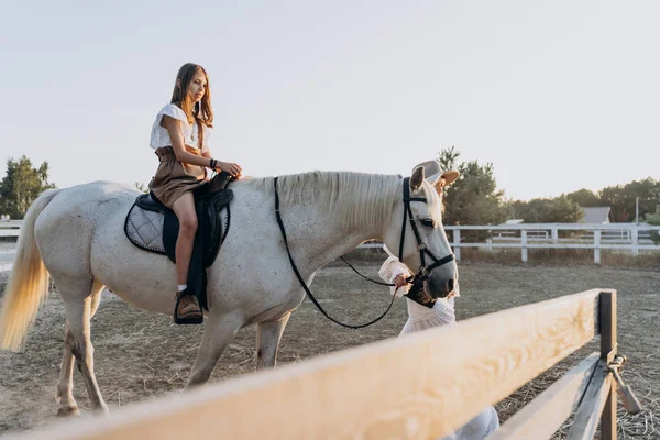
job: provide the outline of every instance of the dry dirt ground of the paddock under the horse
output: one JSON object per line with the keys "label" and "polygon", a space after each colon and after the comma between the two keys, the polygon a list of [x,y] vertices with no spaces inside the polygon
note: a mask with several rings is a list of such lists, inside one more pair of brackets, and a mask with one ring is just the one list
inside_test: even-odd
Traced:
{"label": "dry dirt ground of the paddock under the horse", "polygon": [[[377,262],[362,262],[359,267],[377,276]],[[619,405],[619,438],[660,438],[660,272],[462,262],[460,273],[459,320],[590,288],[616,288],[619,351],[628,356],[624,380],[645,406],[642,414],[628,416]],[[6,275],[0,275],[0,286],[4,284],[2,276]],[[338,264],[319,271],[312,290],[331,316],[355,323],[377,316],[389,299],[385,287],[363,282],[350,268]],[[109,293],[103,295],[92,320],[92,341],[97,378],[110,410],[179,393],[195,359],[202,327],[177,327],[167,316],[151,315]],[[306,299],[292,316],[284,333],[279,364],[395,338],[405,320],[405,301],[398,300],[391,314],[375,326],[363,330],[343,329],[328,321]],[[51,295],[40,311],[25,350],[0,353],[0,436],[55,420],[63,323],[63,304],[57,295]],[[254,345],[255,328],[241,330],[220,360],[211,382],[252,372]],[[501,420],[506,420],[563,371],[596,350],[597,340],[498,403]],[[74,396],[84,416],[88,416],[89,400],[77,372]],[[562,432],[556,437],[563,438]]]}

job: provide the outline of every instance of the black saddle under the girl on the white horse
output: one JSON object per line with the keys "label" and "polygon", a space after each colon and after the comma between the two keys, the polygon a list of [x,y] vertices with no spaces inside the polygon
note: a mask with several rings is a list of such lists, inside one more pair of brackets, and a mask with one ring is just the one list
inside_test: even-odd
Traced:
{"label": "black saddle under the girl on the white horse", "polygon": [[[228,185],[232,179],[233,177],[229,173],[222,172],[194,190],[198,226],[188,270],[187,290],[197,296],[200,306],[206,310],[209,309],[206,296],[206,268],[216,261],[220,246],[229,232],[231,220],[229,204],[233,198],[233,191],[228,188]],[[167,257],[176,263],[175,249],[179,221],[174,211],[161,204],[151,191],[138,196],[135,206],[163,215],[163,248]],[[223,209],[227,209],[227,224],[222,222]],[[145,248],[141,246],[141,249]]]}

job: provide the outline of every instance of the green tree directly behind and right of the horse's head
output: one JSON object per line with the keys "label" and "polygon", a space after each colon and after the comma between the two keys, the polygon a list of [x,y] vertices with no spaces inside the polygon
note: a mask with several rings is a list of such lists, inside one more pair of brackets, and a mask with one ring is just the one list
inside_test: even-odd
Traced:
{"label": "green tree directly behind and right of the horse's head", "polygon": [[458,163],[460,152],[453,146],[439,153],[438,163],[443,170],[458,169],[458,182],[444,191],[443,221],[447,224],[499,224],[509,209],[504,191],[497,190],[493,164],[480,165],[476,161]]}

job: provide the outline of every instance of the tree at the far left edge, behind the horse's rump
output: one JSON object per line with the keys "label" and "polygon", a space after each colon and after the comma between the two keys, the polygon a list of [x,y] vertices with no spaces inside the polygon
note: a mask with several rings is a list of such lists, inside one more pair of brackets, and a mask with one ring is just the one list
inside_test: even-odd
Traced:
{"label": "tree at the far left edge, behind the horse's rump", "polygon": [[44,190],[55,188],[48,183],[48,163],[38,168],[25,156],[7,161],[7,175],[0,182],[0,212],[22,219],[34,199]]}

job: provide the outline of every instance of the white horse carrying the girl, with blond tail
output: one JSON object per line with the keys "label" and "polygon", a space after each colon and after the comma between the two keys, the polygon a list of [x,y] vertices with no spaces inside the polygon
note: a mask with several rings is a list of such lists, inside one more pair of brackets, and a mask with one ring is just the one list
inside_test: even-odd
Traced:
{"label": "white horse carrying the girl, with blond tail", "polygon": [[[400,176],[322,172],[279,178],[288,243],[308,284],[316,271],[367,239],[399,249],[404,182]],[[441,174],[425,178],[424,166],[416,167],[410,197],[427,202],[417,200],[410,208],[428,250],[451,257],[441,221],[443,183]],[[305,298],[275,221],[273,178],[239,180],[231,188],[232,228],[207,270],[210,311],[187,387],[206,383],[237,332],[254,323],[258,326],[257,369],[274,366],[290,312]],[[66,310],[58,415],[78,414],[73,397],[74,358],[92,408],[108,410],[95,377],[90,342],[90,318],[105,286],[138,307],[166,315],[174,310],[174,264],[134,246],[123,231],[138,194],[107,182],[52,189],[25,215],[0,315],[0,349],[23,346],[47,294],[50,275]],[[403,228],[407,231],[403,260],[415,273],[421,265],[418,244],[411,226],[406,222]],[[426,279],[430,296],[444,297],[453,288],[458,272],[454,261],[449,263]]]}

